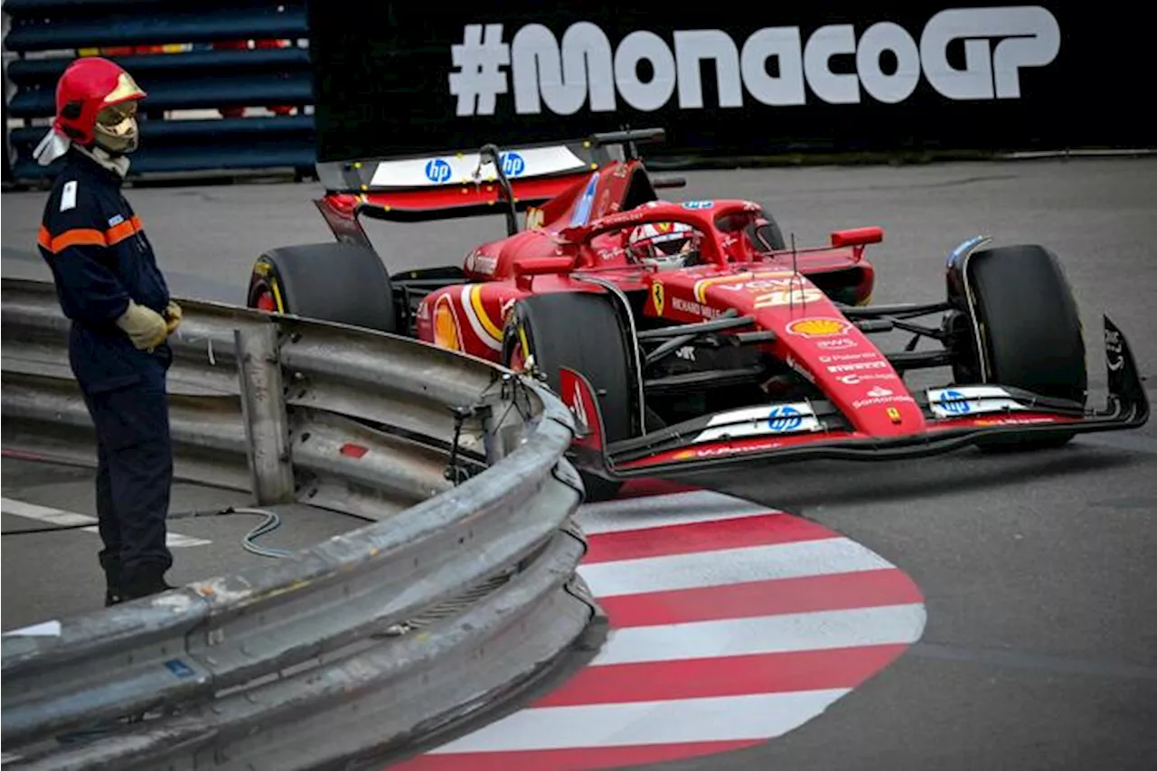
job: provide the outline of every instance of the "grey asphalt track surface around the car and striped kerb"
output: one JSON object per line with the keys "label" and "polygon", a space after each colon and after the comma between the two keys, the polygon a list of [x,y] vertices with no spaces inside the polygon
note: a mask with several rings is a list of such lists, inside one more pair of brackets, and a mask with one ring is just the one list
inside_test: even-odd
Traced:
{"label": "grey asphalt track surface around the car and striped kerb", "polygon": [[[1103,398],[1105,383],[1101,314],[1128,337],[1142,375],[1154,374],[1157,161],[686,176],[688,186],[672,198],[759,199],[801,245],[824,242],[835,228],[883,226],[885,242],[869,250],[880,303],[941,299],[944,254],[978,233],[997,243],[1042,243],[1060,256],[1077,295],[1093,398]],[[310,204],[318,192],[311,184],[248,184],[127,194],[176,294],[241,302],[261,250],[330,240]],[[47,278],[32,247],[43,200],[39,192],[0,197],[0,276]],[[400,269],[459,263],[476,241],[500,236],[502,223],[371,223],[369,230],[388,265]],[[1151,383],[1148,390],[1157,396]],[[3,495],[91,511],[83,473],[44,470],[34,478],[23,464],[0,467]],[[896,662],[799,728],[757,747],[649,768],[1152,768],[1155,472],[1157,426],[1150,424],[1030,456],[961,451],[918,463],[793,464],[758,478],[709,479],[730,494],[821,523],[902,570],[923,594],[927,626]],[[237,544],[253,524],[233,517],[183,523],[179,533],[213,544],[178,551],[172,578],[191,580],[205,570],[261,559]],[[267,541],[305,545],[352,526],[303,516]],[[0,522],[9,527],[12,521]],[[19,549],[0,541],[0,626],[44,618],[35,597],[44,602],[46,583],[56,614],[98,600],[86,537],[95,538],[75,531],[25,536]]]}

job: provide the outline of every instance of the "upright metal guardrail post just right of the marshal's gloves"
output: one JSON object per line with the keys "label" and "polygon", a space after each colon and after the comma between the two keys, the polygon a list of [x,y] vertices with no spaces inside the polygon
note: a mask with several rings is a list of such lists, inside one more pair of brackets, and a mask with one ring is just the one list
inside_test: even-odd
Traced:
{"label": "upright metal guardrail post just right of the marshal's gloves", "polygon": [[237,329],[237,377],[249,441],[249,471],[258,506],[294,501],[289,419],[281,381],[278,326]]}

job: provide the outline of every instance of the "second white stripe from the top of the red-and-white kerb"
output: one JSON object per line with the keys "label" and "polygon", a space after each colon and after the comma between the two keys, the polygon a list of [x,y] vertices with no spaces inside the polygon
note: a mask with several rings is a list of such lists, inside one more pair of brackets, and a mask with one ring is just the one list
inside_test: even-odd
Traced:
{"label": "second white stripe from the top of the red-and-white kerb", "polygon": [[843,537],[580,565],[596,597],[892,567]]}

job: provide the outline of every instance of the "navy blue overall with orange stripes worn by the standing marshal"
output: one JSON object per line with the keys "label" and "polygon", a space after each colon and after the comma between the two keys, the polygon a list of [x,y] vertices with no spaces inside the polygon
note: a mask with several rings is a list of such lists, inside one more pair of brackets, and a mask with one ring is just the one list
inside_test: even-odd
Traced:
{"label": "navy blue overall with orange stripes worn by the standing marshal", "polygon": [[120,188],[118,174],[69,150],[38,241],[72,320],[69,361],[96,427],[101,566],[110,593],[139,596],[157,590],[172,565],[165,544],[172,352],[168,344],[140,351],[116,324],[130,298],[161,314],[169,302],[153,247]]}

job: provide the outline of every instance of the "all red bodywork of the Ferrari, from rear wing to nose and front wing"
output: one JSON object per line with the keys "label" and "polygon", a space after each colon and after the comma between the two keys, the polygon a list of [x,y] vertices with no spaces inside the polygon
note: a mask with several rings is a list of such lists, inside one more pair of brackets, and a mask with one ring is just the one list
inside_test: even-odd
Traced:
{"label": "all red bodywork of the Ferrari, from rear wing to nose and front wing", "polygon": [[[469,252],[463,265],[469,282],[437,288],[425,296],[417,310],[419,339],[517,366],[504,360],[503,353],[503,330],[514,304],[530,294],[606,292],[588,280],[597,278],[627,294],[646,293],[644,320],[635,320],[640,328],[663,322],[694,324],[728,310],[750,317],[753,324],[747,330],[774,335],[760,343],[764,350],[816,384],[843,418],[839,427],[813,418],[810,431],[801,431],[798,423],[787,431],[783,426],[788,424],[780,423],[776,429],[774,410],[779,407],[769,398],[762,405],[727,411],[723,417],[730,416],[730,420],[723,421],[725,429],[703,431],[715,425],[705,419],[678,441],[668,438],[649,450],[636,449],[629,454],[632,457],[612,462],[606,448],[592,447],[600,443],[600,438],[598,424],[588,414],[587,407],[595,416],[598,410],[589,383],[581,373],[565,372],[563,381],[569,386],[562,389],[561,397],[576,414],[582,411],[584,419],[580,424],[590,432],[577,445],[596,456],[602,453],[597,465],[614,476],[642,476],[725,457],[780,454],[808,445],[838,445],[841,450],[852,447],[849,453],[858,453],[865,442],[863,449],[871,451],[874,442],[905,445],[905,438],[911,438],[913,446],[934,441],[926,438],[936,435],[952,442],[956,440],[949,434],[959,429],[987,433],[989,428],[1083,421],[1082,416],[1066,414],[1063,410],[1002,406],[1010,402],[1003,398],[1008,394],[979,397],[993,401],[995,406],[979,409],[979,402],[968,402],[971,406],[960,410],[943,404],[933,410],[931,396],[911,391],[885,354],[818,285],[824,277],[842,273],[850,277],[843,285],[849,293],[843,307],[867,304],[875,272],[864,250],[883,240],[879,228],[839,230],[823,247],[769,252],[752,244],[745,233],[760,215],[757,204],[740,199],[655,203],[650,178],[638,160],[514,181],[511,189],[516,200],[546,203],[528,211],[522,232]],[[640,196],[640,189],[649,194]],[[363,208],[395,214],[439,210],[452,215],[455,208],[472,207],[477,213],[479,206],[487,205],[498,211],[502,199],[501,190],[491,182],[331,193],[318,203],[339,238],[344,234],[364,238],[356,225]],[[634,227],[672,221],[690,225],[701,235],[700,264],[655,272],[628,259],[626,238]]]}

